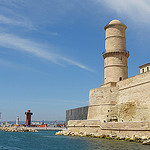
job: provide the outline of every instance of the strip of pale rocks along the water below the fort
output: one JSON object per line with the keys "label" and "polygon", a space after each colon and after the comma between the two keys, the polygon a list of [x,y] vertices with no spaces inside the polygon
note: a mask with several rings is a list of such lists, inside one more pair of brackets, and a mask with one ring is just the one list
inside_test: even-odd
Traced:
{"label": "strip of pale rocks along the water below the fort", "polygon": [[147,136],[140,137],[138,135],[133,135],[132,137],[129,136],[117,137],[116,135],[104,135],[100,133],[71,132],[71,131],[58,131],[56,135],[114,139],[114,140],[130,141],[130,142],[140,142],[143,145],[150,145],[150,137]]}

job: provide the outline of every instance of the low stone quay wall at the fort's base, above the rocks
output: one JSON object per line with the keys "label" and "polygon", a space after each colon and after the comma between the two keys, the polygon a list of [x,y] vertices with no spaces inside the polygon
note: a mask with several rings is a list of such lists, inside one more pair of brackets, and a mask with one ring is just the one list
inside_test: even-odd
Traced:
{"label": "low stone quay wall at the fort's base, above the rocks", "polygon": [[132,137],[133,135],[150,137],[150,122],[109,122],[99,120],[71,120],[68,122],[71,132],[94,133],[95,135],[111,135],[116,137]]}

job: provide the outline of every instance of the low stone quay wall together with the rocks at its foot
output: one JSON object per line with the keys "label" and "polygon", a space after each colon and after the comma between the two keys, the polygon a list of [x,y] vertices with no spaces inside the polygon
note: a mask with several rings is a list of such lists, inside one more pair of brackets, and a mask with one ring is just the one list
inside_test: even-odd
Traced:
{"label": "low stone quay wall together with the rocks at its foot", "polygon": [[67,131],[57,135],[90,136],[106,139],[150,143],[150,122],[101,122],[100,120],[70,120]]}

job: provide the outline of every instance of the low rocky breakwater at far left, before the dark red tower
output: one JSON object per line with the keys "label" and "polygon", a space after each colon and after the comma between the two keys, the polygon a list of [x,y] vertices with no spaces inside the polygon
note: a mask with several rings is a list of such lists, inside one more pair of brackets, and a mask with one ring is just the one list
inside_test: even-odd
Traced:
{"label": "low rocky breakwater at far left, before the dark red tower", "polygon": [[38,132],[36,129],[26,127],[0,127],[0,130],[5,132]]}

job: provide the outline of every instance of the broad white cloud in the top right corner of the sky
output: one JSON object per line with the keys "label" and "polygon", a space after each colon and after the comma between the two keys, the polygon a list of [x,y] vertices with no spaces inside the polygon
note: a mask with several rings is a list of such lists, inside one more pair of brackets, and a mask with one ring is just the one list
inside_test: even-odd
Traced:
{"label": "broad white cloud in the top right corner of the sky", "polygon": [[150,23],[150,1],[149,0],[94,0],[116,11],[123,17],[129,17],[135,22]]}

